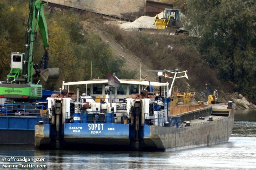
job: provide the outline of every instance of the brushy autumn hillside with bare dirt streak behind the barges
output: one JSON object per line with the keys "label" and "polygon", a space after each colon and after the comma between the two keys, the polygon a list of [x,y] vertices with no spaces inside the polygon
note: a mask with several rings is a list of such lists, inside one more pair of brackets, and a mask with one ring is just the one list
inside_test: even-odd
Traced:
{"label": "brushy autumn hillside with bare dirt streak behind the barges", "polygon": [[[4,80],[9,72],[11,52],[23,51],[27,11],[27,0],[0,1],[0,50],[3,52],[0,63],[1,80]],[[68,82],[90,79],[92,62],[92,78],[106,78],[107,72],[116,72],[119,78],[141,76],[144,79],[147,75],[147,80],[156,81],[156,74],[147,70],[188,70],[189,80],[181,79],[176,82],[179,89],[203,91],[207,83],[211,84],[210,93],[214,89],[220,91],[222,101],[232,99],[232,93],[237,91],[238,94],[242,93],[245,97],[255,99],[252,95],[255,84],[253,87],[253,83],[250,83],[255,78],[247,80],[245,90],[241,88],[242,83],[237,84],[241,81],[238,79],[239,75],[236,75],[239,72],[232,73],[233,76],[236,75],[235,79],[225,78],[232,65],[223,66],[222,63],[225,62],[219,56],[224,57],[226,53],[223,53],[223,49],[219,54],[216,52],[216,47],[206,47],[209,42],[202,44],[203,38],[125,31],[115,24],[105,24],[105,20],[96,15],[80,14],[72,10],[51,8],[45,10],[45,16],[49,33],[50,64],[52,67],[60,67],[61,72],[57,82],[43,83],[45,88],[57,90],[61,87],[62,80]],[[16,27],[8,24],[8,21],[15,23]],[[37,39],[33,51],[35,63],[40,60],[43,53],[41,37],[38,36]],[[202,49],[203,46],[205,49]],[[226,58],[230,61],[228,57]],[[255,63],[255,56],[252,57],[252,61]],[[238,64],[239,67],[241,64]],[[250,63],[246,64],[250,65]],[[247,65],[245,66],[248,68]],[[243,75],[244,72],[241,74]],[[255,72],[252,71],[248,75],[255,75]],[[170,82],[171,79],[163,78],[163,81]]]}

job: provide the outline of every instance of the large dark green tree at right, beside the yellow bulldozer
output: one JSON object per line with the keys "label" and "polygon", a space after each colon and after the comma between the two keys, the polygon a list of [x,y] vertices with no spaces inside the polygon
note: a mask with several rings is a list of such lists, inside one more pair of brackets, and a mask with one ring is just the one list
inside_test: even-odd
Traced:
{"label": "large dark green tree at right, beside the yellow bulldozer", "polygon": [[[198,12],[200,11],[200,12]],[[255,1],[188,1],[187,29],[218,77],[256,102]]]}

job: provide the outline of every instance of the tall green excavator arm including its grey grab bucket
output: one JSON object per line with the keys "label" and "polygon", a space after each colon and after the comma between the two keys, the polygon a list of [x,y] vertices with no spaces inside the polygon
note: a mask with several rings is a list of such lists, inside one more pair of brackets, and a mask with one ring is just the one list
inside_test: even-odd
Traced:
{"label": "tall green excavator arm including its grey grab bucket", "polygon": [[[25,35],[25,55],[22,77],[26,78],[28,82],[33,82],[33,77],[41,76],[45,81],[55,81],[59,78],[59,68],[48,68],[49,67],[49,56],[48,56],[48,32],[47,24],[44,17],[43,10],[44,3],[40,0],[30,0],[29,2],[29,17],[28,26]],[[44,44],[44,55],[41,58],[40,63],[33,63],[33,44],[37,37],[37,29],[40,28],[40,33],[42,36]],[[34,74],[33,70],[36,70]]]}

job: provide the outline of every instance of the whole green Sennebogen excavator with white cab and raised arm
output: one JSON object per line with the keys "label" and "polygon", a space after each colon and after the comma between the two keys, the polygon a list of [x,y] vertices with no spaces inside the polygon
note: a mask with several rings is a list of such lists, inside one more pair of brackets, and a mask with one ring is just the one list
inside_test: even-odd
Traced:
{"label": "whole green Sennebogen excavator with white cab and raised arm", "polygon": [[[41,3],[40,0],[30,0],[25,52],[12,52],[11,71],[7,75],[7,79],[0,82],[0,98],[12,101],[12,104],[13,101],[23,103],[26,101],[27,103],[33,99],[41,99],[40,76],[46,82],[56,81],[59,78],[59,68],[49,68],[48,33],[43,7],[44,3]],[[38,34],[38,26],[44,44],[44,55],[40,63],[35,64],[33,62],[33,44]]]}

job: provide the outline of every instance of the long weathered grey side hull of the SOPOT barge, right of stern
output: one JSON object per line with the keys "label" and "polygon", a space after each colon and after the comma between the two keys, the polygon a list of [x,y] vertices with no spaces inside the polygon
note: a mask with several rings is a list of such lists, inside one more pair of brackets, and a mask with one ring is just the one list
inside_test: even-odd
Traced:
{"label": "long weathered grey side hull of the SOPOT barge, right of stern", "polygon": [[[220,110],[219,110],[220,111]],[[228,142],[234,124],[233,110],[212,113],[213,121],[192,120],[191,126],[183,128],[148,126],[150,135],[144,136],[147,147],[163,151],[175,151],[210,144]]]}

